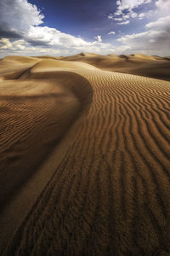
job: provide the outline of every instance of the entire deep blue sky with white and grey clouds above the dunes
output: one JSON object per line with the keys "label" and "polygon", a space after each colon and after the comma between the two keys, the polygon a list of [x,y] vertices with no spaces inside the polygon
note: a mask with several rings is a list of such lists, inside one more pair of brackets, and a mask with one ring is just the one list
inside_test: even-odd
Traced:
{"label": "entire deep blue sky with white and grey clouds above the dunes", "polygon": [[4,55],[170,55],[170,0],[0,0]]}

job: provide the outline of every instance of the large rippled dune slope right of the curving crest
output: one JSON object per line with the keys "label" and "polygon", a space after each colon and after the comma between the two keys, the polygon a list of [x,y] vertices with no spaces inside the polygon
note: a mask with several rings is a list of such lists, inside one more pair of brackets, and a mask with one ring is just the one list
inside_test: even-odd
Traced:
{"label": "large rippled dune slope right of the curving crest", "polygon": [[28,94],[43,83],[41,94],[68,90],[79,111],[65,156],[3,255],[170,253],[169,82],[59,60],[34,64],[16,82],[33,83]]}

